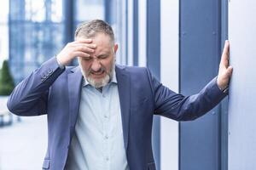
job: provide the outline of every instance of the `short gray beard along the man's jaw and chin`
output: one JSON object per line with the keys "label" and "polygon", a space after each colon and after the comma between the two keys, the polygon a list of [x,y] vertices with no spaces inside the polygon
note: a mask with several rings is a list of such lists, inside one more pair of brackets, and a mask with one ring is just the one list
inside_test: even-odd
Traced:
{"label": "short gray beard along the man's jaw and chin", "polygon": [[113,64],[112,64],[112,67],[111,67],[109,73],[107,72],[107,75],[105,77],[103,77],[99,82],[97,82],[95,79],[93,79],[90,76],[86,76],[86,73],[83,70],[83,67],[80,63],[80,60],[79,60],[79,67],[80,67],[80,71],[82,72],[82,75],[84,77],[84,80],[86,79],[87,82],[89,82],[90,85],[93,86],[94,88],[102,88],[102,87],[106,86],[108,84],[108,82],[110,82],[110,80],[113,78],[113,71],[115,69],[115,62],[114,62],[114,59],[113,59]]}

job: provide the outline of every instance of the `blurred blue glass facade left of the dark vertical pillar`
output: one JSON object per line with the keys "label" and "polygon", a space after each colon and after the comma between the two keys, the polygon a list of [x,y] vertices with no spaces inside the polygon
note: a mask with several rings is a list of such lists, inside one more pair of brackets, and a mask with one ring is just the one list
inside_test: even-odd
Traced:
{"label": "blurred blue glass facade left of the dark vertical pillar", "polygon": [[9,62],[16,83],[63,47],[61,1],[18,3],[9,1]]}

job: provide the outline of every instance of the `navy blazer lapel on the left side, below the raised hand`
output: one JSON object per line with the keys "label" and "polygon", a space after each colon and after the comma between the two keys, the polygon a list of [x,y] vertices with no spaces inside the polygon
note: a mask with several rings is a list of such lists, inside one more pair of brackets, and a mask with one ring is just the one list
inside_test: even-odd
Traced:
{"label": "navy blazer lapel on the left side, below the raised hand", "polygon": [[79,105],[81,99],[82,73],[79,67],[75,67],[68,74],[68,98],[69,98],[69,126],[73,133],[77,117],[79,115]]}

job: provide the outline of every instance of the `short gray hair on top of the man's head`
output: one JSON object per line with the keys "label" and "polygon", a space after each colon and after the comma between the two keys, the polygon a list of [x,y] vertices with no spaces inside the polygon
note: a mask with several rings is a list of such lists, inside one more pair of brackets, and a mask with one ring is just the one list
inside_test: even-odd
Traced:
{"label": "short gray hair on top of the man's head", "polygon": [[114,35],[112,27],[104,20],[91,20],[90,22],[82,22],[75,31],[74,37],[96,37],[97,33],[104,33],[108,35],[112,42],[114,42]]}

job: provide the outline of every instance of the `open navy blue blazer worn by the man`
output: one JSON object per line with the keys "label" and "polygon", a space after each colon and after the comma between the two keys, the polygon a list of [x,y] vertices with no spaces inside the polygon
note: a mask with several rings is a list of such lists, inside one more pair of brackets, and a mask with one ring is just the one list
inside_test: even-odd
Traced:
{"label": "open navy blue blazer worn by the man", "polygon": [[[225,94],[216,78],[199,94],[184,97],[158,82],[147,68],[116,66],[125,151],[131,170],[155,169],[152,152],[154,115],[190,121],[211,110]],[[49,59],[20,82],[8,108],[19,116],[48,116],[48,149],[44,169],[64,169],[79,114],[82,74],[79,67],[61,69]]]}

